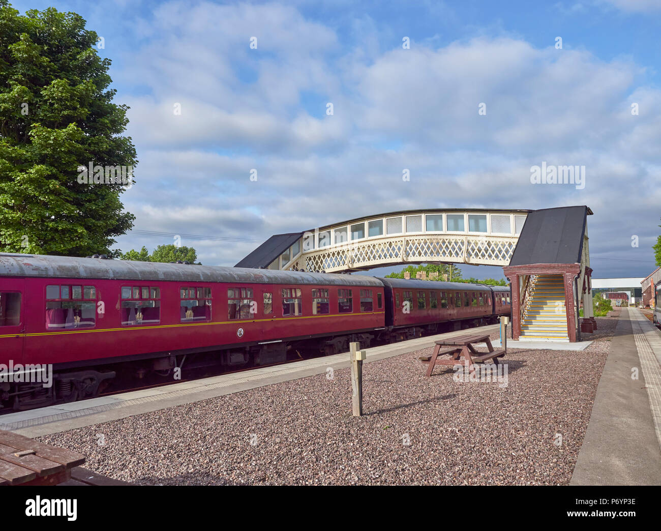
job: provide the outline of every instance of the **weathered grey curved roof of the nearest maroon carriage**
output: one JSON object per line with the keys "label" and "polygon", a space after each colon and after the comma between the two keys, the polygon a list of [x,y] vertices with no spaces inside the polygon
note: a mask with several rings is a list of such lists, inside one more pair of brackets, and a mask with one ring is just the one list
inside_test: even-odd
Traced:
{"label": "weathered grey curved roof of the nearest maroon carriage", "polygon": [[0,277],[3,276],[171,280],[175,282],[254,282],[256,284],[278,282],[282,284],[374,286],[377,288],[383,286],[377,278],[366,275],[0,253]]}

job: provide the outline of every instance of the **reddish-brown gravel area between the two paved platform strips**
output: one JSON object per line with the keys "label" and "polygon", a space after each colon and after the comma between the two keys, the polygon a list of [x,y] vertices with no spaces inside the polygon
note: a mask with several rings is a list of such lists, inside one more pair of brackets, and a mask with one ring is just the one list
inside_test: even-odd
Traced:
{"label": "reddish-brown gravel area between the two paved platform strips", "polygon": [[[41,437],[141,485],[566,485],[617,319],[583,352],[508,350],[508,384],[424,376],[431,349]],[[498,337],[496,331],[495,337]]]}

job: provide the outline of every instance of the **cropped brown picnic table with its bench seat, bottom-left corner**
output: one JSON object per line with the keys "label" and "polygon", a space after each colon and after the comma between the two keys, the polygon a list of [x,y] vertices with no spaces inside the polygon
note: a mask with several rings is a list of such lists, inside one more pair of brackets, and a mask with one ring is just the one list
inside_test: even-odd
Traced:
{"label": "cropped brown picnic table with its bench seat, bottom-left corner", "polygon": [[81,468],[84,462],[71,450],[0,430],[0,485],[126,484]]}

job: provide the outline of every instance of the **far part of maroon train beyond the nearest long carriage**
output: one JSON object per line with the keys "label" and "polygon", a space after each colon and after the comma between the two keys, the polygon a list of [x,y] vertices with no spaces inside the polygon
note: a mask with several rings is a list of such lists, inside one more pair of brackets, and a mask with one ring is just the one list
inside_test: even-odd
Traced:
{"label": "far part of maroon train beyond the nearest long carriage", "polygon": [[401,278],[381,281],[389,302],[385,307],[386,325],[403,337],[438,331],[440,323],[453,323],[452,329],[495,323],[498,315],[511,311],[510,290],[504,286]]}

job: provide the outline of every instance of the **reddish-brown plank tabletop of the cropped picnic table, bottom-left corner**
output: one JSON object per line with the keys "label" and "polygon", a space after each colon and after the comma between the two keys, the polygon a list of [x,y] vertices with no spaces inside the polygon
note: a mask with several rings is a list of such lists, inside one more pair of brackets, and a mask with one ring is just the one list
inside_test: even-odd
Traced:
{"label": "reddish-brown plank tabletop of the cropped picnic table, bottom-left corner", "polygon": [[0,430],[0,485],[20,485],[38,478],[63,477],[85,456]]}

